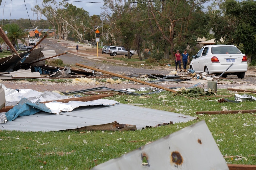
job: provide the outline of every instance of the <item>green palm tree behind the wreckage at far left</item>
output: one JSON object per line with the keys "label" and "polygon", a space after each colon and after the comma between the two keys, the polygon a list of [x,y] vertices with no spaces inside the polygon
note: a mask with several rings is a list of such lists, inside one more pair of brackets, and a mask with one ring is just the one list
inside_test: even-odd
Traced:
{"label": "green palm tree behind the wreckage at far left", "polygon": [[[22,43],[26,42],[23,39],[26,36],[26,33],[19,27],[19,25],[6,24],[6,25],[4,25],[4,30],[7,31],[6,35],[14,47],[16,44],[18,46],[18,40],[20,40]],[[4,40],[1,39],[0,42],[3,43]],[[11,48],[10,48],[10,51],[11,51],[11,53],[13,52]]]}

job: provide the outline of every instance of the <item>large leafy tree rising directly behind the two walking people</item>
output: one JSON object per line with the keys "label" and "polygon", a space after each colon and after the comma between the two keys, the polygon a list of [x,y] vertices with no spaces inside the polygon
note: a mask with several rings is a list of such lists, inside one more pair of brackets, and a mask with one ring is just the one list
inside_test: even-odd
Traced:
{"label": "large leafy tree rising directly behind the two walking people", "polygon": [[[174,48],[183,50],[197,43],[197,37],[208,32],[208,17],[202,11],[207,0],[170,0],[149,2],[151,18],[157,25],[164,46],[165,58],[169,58],[167,48],[174,54]],[[151,19],[150,18],[150,19]]]}

